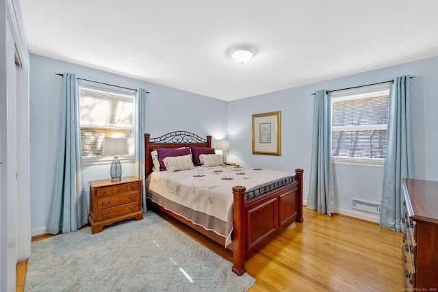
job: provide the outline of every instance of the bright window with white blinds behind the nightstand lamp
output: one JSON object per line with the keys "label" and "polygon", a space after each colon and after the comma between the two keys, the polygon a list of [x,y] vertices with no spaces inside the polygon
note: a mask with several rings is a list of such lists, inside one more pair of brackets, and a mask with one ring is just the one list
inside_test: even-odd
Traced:
{"label": "bright window with white blinds behind the nightstand lamp", "polygon": [[129,155],[133,155],[134,98],[134,90],[80,80],[82,157],[100,157],[105,138],[127,138]]}

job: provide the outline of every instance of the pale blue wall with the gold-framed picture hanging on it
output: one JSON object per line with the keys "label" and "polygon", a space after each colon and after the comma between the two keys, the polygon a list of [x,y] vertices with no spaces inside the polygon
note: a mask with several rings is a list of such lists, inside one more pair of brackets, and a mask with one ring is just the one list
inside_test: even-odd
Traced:
{"label": "pale blue wall with the gold-framed picture hanging on it", "polygon": [[[318,68],[315,68],[318,70]],[[438,57],[357,75],[289,88],[229,102],[229,161],[293,172],[305,170],[304,200],[309,192],[313,94],[317,90],[337,90],[388,81],[401,75],[411,79],[415,178],[438,181]],[[281,157],[251,154],[251,116],[281,111]],[[383,167],[335,164],[336,207],[339,213],[378,222],[378,215],[351,209],[351,199],[381,202]]]}

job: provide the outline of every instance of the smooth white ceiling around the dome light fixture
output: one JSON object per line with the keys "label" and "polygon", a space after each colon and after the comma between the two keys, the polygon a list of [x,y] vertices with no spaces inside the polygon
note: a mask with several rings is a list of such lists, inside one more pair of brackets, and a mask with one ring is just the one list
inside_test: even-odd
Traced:
{"label": "smooth white ceiling around the dome light fixture", "polygon": [[437,0],[20,3],[31,53],[224,101],[438,55]]}

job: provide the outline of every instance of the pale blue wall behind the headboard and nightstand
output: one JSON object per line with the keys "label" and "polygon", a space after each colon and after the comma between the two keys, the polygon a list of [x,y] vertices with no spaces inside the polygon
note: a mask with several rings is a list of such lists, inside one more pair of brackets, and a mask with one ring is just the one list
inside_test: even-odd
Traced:
{"label": "pale blue wall behind the headboard and nightstand", "polygon": [[[72,72],[77,77],[123,86],[144,88],[146,96],[146,132],[151,137],[171,131],[191,131],[216,141],[227,135],[227,102],[154,83],[94,70],[40,55],[30,55],[30,156],[31,156],[31,230],[45,233],[55,174],[60,93],[62,77]],[[123,176],[133,174],[133,163],[123,165]],[[131,164],[131,165],[129,165]],[[83,181],[108,178],[109,165],[85,166]]]}

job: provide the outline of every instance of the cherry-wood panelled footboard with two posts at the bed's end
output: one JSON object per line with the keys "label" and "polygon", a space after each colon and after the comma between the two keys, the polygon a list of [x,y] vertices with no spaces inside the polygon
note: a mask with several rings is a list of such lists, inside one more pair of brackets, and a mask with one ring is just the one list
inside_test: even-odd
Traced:
{"label": "cherry-wood panelled footboard with two posts at the bed's end", "polygon": [[287,226],[295,221],[302,222],[303,172],[296,169],[294,181],[253,198],[245,198],[244,187],[233,187],[235,274],[244,274],[245,261],[283,232]]}

